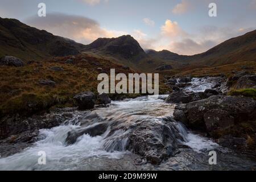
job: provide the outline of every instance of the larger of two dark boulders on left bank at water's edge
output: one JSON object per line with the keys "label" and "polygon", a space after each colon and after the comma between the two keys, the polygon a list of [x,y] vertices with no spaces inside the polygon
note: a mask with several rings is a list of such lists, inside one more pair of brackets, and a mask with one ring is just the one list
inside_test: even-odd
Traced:
{"label": "larger of two dark boulders on left bank at water's edge", "polygon": [[82,92],[74,97],[79,109],[92,109],[95,105],[96,97],[92,92]]}

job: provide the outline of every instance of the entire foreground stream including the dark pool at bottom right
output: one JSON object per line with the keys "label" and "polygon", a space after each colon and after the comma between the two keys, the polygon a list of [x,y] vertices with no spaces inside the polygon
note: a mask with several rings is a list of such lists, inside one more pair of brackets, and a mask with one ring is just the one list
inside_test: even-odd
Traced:
{"label": "entire foreground stream including the dark pool at bottom right", "polygon": [[[245,170],[256,169],[250,155],[237,154],[218,146],[208,138],[189,131],[171,119],[175,105],[147,96],[112,101],[109,107],[93,111],[72,111],[72,119],[52,129],[40,130],[38,142],[18,154],[0,158],[1,170]],[[162,99],[160,99],[162,98]],[[146,125],[144,124],[146,123]],[[167,123],[167,124],[164,124]],[[170,125],[169,125],[170,124]],[[152,128],[150,128],[152,126]],[[131,136],[154,136],[162,139],[154,126],[167,126],[173,131],[173,146],[178,152],[158,166],[134,154]],[[150,130],[143,131],[148,128]],[[136,132],[135,132],[136,131]],[[166,131],[166,130],[164,130]],[[147,142],[148,138],[145,138]],[[174,141],[173,141],[174,140]],[[136,142],[136,141],[135,141]],[[167,141],[168,143],[170,141]],[[146,143],[147,145],[147,143]],[[154,143],[150,145],[154,148]],[[209,151],[217,152],[217,165],[209,165]],[[38,152],[46,154],[46,165],[39,165]]]}

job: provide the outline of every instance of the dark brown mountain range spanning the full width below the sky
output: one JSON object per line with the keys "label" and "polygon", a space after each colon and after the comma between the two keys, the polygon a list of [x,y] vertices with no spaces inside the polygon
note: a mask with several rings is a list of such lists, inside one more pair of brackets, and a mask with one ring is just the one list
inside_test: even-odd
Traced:
{"label": "dark brown mountain range spanning the full width below the sky", "polygon": [[209,51],[183,56],[163,50],[146,52],[130,35],[119,38],[99,38],[89,45],[52,35],[45,30],[27,26],[16,19],[0,18],[0,57],[11,55],[23,60],[44,59],[51,56],[92,53],[138,71],[197,67],[215,67],[256,60],[256,30],[229,39]]}

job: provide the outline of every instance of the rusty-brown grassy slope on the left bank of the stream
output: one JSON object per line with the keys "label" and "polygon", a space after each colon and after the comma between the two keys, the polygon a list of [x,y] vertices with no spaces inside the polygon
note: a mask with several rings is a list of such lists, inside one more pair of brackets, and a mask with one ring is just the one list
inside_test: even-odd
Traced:
{"label": "rusty-brown grassy slope on the left bank of the stream", "polygon": [[[72,59],[75,64],[65,64]],[[52,71],[51,67],[60,67],[64,71]],[[97,68],[107,73],[115,68],[115,73],[134,73],[133,70],[123,69],[122,65],[110,60],[94,57],[83,53],[78,56],[53,57],[44,61],[35,61],[24,67],[0,67],[0,114],[30,115],[51,107],[73,106],[75,94],[92,91],[97,94]],[[49,79],[56,82],[56,86],[44,86],[39,80]],[[163,80],[160,77],[160,80]],[[160,93],[170,89],[160,83]],[[141,94],[109,94],[112,100],[134,98]]]}

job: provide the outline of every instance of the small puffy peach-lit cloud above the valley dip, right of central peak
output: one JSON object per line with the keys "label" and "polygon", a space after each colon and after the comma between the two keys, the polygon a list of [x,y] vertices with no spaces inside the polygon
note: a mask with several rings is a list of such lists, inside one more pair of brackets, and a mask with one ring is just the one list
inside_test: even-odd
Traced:
{"label": "small puffy peach-lit cloud above the valley dip, right of central peak", "polygon": [[176,36],[182,36],[186,33],[179,27],[177,22],[172,22],[170,19],[167,19],[164,25],[161,27],[161,32],[164,36],[173,38]]}

